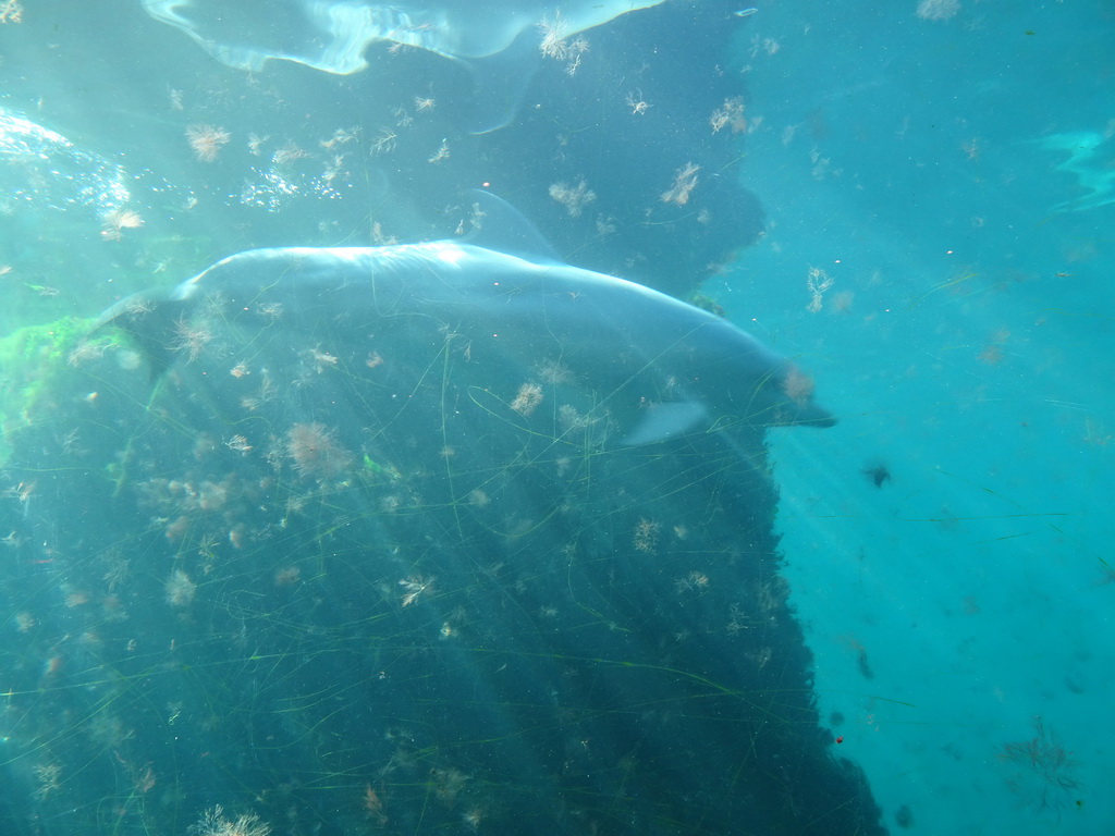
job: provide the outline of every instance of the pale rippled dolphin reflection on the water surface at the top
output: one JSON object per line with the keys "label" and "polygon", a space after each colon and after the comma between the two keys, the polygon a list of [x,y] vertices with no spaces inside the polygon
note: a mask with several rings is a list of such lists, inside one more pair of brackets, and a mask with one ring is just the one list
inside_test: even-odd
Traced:
{"label": "pale rippled dolphin reflection on the water surface at the top", "polygon": [[469,130],[483,134],[511,119],[541,55],[575,60],[585,48],[575,35],[661,2],[143,0],[143,7],[219,61],[250,72],[284,60],[347,76],[368,67],[365,54],[377,42],[462,61],[477,91]]}

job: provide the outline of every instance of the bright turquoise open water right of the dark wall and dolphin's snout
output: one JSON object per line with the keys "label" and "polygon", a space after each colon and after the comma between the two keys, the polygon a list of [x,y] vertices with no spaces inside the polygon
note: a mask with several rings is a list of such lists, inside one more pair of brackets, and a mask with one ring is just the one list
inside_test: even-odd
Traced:
{"label": "bright turquoise open water right of the dark wall and dolphin's snout", "polygon": [[[914,832],[1107,833],[1112,11],[753,21],[783,47],[754,61],[745,163],[770,224],[726,284],[844,410],[775,439],[822,703]],[[1002,757],[1036,717],[1079,785],[1046,809]]]}

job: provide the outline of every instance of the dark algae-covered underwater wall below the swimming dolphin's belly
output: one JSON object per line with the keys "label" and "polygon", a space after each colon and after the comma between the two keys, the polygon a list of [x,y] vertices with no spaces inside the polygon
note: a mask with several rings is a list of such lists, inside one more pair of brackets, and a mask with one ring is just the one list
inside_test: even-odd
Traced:
{"label": "dark algae-covered underwater wall below the swimming dolphin's belly", "polygon": [[560,357],[288,313],[75,343],[7,434],[6,833],[884,832],[762,428],[623,447]]}

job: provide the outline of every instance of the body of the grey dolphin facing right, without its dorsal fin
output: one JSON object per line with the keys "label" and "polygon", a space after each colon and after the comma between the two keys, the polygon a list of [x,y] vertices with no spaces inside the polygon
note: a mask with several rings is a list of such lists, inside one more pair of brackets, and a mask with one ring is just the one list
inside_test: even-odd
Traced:
{"label": "body of the grey dolphin facing right, without its dorsal fin", "polygon": [[725,319],[623,279],[462,241],[252,250],[169,292],[123,300],[98,327],[135,333],[159,371],[186,361],[192,319],[216,311],[223,327],[258,329],[269,305],[283,311],[274,327],[356,342],[353,354],[397,334],[396,347],[452,339],[471,368],[560,369],[601,393],[624,445],[835,422],[805,375]]}

